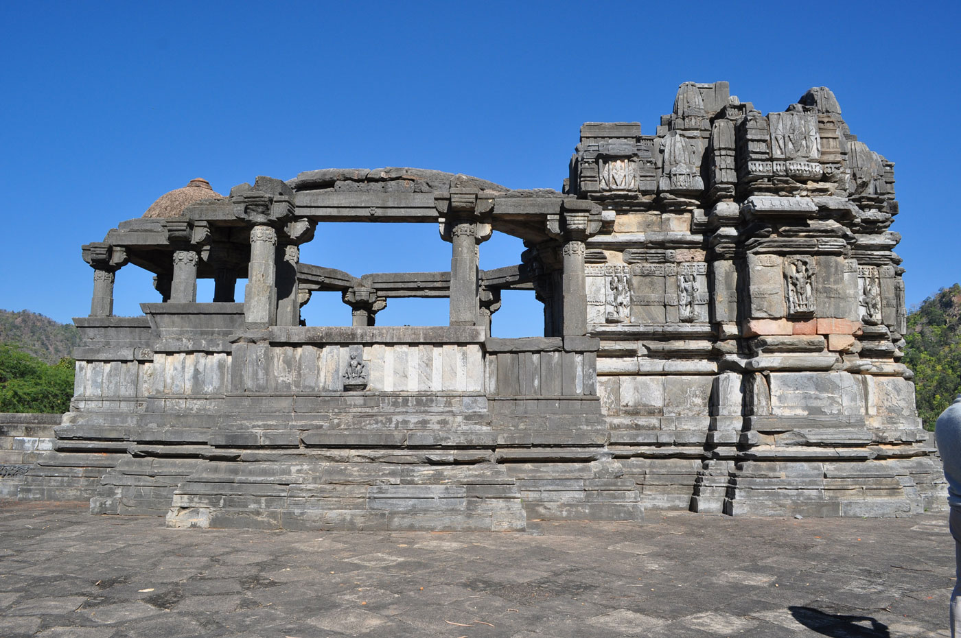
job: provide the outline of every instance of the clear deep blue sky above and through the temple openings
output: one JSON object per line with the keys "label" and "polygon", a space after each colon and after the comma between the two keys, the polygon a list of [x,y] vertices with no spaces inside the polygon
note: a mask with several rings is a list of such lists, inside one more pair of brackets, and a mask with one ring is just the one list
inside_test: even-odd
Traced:
{"label": "clear deep blue sky above and through the temple openings", "polygon": [[[830,86],[897,163],[910,306],[961,280],[959,17],[953,2],[2,3],[0,307],[86,315],[81,244],[191,178],[226,193],[394,165],[559,189],[582,122],[653,134],[680,83],[716,80],[764,112]],[[450,267],[432,225],[317,235],[304,259],[355,274]],[[520,250],[492,239],[481,267]],[[158,299],[134,266],[115,296],[117,314]],[[539,333],[530,297],[505,295],[495,333]],[[333,295],[305,314],[350,321]],[[446,300],[379,319],[446,324]]]}

